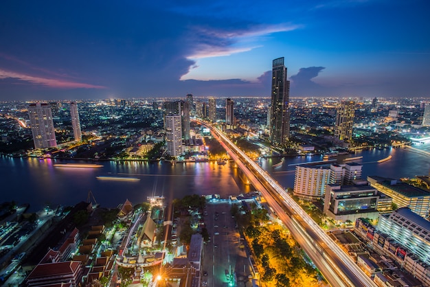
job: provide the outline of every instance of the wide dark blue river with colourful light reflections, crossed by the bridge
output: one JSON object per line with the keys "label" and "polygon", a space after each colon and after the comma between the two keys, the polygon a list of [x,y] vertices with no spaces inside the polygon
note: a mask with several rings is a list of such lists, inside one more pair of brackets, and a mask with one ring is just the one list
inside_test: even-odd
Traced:
{"label": "wide dark blue river with colourful light reflections, crossed by the bridge", "polygon": [[[392,159],[377,163],[389,154]],[[428,175],[430,143],[411,148],[363,150],[348,157],[363,157],[354,162],[363,164],[364,178],[368,175],[394,179]],[[319,155],[286,157],[282,165],[273,168],[280,158],[269,158],[262,159],[260,165],[281,185],[293,187],[295,163],[322,160]],[[126,199],[137,204],[147,196],[165,196],[172,200],[188,194],[220,194],[226,198],[249,192],[251,188],[242,183],[234,164],[100,161],[102,168],[54,167],[55,163],[73,162],[79,161],[0,156],[1,201],[30,203],[30,211],[36,211],[45,205],[75,205],[87,200],[91,190],[102,207],[116,207]],[[133,176],[139,181],[102,181],[96,176]]]}

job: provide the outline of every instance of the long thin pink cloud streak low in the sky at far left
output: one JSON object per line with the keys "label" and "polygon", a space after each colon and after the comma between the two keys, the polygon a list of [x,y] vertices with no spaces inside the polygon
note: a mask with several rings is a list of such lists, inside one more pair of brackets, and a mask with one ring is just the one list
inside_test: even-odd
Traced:
{"label": "long thin pink cloud streak low in the sky at far left", "polygon": [[57,88],[57,89],[105,89],[106,87],[97,86],[94,84],[85,84],[80,82],[67,82],[63,80],[41,78],[35,76],[25,75],[23,73],[15,73],[12,71],[5,71],[0,69],[0,79],[16,79],[24,82],[30,82],[32,84],[39,84],[44,87]]}

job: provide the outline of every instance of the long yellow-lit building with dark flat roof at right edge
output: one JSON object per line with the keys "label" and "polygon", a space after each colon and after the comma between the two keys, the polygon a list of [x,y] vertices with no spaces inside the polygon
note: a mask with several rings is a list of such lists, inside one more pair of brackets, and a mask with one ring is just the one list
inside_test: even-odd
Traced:
{"label": "long yellow-lit building with dark flat roof at right edge", "polygon": [[372,187],[393,198],[397,207],[409,207],[411,211],[426,218],[430,209],[430,192],[396,179],[385,179],[380,176],[367,176]]}

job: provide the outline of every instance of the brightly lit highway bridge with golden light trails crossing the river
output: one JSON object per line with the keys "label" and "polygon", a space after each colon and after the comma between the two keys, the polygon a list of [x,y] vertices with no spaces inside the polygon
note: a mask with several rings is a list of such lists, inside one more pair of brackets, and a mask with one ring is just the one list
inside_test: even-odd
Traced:
{"label": "brightly lit highway bridge with golden light trails crossing the river", "polygon": [[234,143],[212,125],[204,123],[220,141],[253,186],[261,192],[267,203],[291,234],[313,260],[332,286],[376,286],[363,271],[286,193],[267,172],[249,159]]}

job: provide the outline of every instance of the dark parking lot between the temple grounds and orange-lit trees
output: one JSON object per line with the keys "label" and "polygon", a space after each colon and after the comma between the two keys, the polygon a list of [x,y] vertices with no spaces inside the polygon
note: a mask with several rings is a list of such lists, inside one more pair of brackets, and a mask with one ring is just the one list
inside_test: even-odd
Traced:
{"label": "dark parking lot between the temple grounds and orange-lit trees", "polygon": [[230,208],[230,203],[208,203],[205,209],[210,242],[203,248],[202,286],[229,286],[235,276],[237,286],[252,286],[251,268]]}

